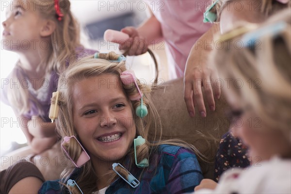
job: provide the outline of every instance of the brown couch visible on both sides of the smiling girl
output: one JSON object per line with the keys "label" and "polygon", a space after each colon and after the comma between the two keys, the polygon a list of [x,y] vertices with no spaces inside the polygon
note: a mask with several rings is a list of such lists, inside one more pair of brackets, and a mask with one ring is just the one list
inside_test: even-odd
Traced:
{"label": "brown couch visible on both sides of the smiling girl", "polygon": [[[182,138],[196,146],[207,157],[207,161],[199,159],[204,177],[213,178],[213,158],[218,146],[214,139],[220,140],[221,135],[229,127],[224,116],[227,105],[221,98],[216,100],[215,112],[211,112],[207,108],[207,118],[201,118],[197,112],[196,116],[191,118],[184,102],[183,88],[183,80],[178,79],[165,82],[162,84],[162,89],[153,93],[153,99],[161,116],[162,134],[165,138]],[[28,146],[14,151],[8,158],[10,161],[29,158],[41,170],[46,179],[59,178],[68,163],[68,159],[61,151],[60,143],[39,155],[31,153]],[[1,169],[5,169],[11,163],[2,163]]]}

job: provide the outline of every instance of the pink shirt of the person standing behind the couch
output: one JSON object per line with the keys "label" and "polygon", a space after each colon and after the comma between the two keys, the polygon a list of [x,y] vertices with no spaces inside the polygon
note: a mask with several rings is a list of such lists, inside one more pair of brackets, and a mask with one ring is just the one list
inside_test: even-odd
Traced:
{"label": "pink shirt of the person standing behind the couch", "polygon": [[[188,55],[194,43],[210,29],[203,12],[211,0],[147,0],[162,26],[171,76],[184,76]],[[173,72],[174,71],[174,72]]]}

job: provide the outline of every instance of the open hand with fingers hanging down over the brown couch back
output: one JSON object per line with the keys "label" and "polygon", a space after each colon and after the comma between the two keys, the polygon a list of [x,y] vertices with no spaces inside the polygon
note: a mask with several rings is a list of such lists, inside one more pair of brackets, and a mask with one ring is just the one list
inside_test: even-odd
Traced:
{"label": "open hand with fingers hanging down over the brown couch back", "polygon": [[217,26],[213,25],[208,32],[203,34],[192,47],[186,63],[184,99],[191,117],[195,116],[195,108],[198,108],[202,117],[206,117],[202,87],[204,87],[205,98],[211,111],[215,110],[214,96],[219,99],[221,94],[221,81],[219,81],[217,69],[214,65],[208,65],[211,47],[204,45],[211,42],[213,34],[218,31]]}

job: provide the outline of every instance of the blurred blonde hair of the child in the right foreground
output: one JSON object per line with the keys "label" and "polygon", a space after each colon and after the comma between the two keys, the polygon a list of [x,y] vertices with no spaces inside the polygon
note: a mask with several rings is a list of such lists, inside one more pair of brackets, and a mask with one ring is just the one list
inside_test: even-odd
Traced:
{"label": "blurred blonde hair of the child in the right foreground", "polygon": [[[210,64],[217,65],[223,79],[232,79],[230,84],[240,79],[243,87],[232,87],[231,90],[238,95],[242,106],[250,107],[270,130],[282,133],[291,143],[291,9],[271,17],[260,27],[282,21],[287,24],[284,31],[275,36],[261,36],[256,40],[258,44],[240,49],[229,44],[216,49],[211,54]],[[243,36],[227,38],[230,40],[241,41]]]}

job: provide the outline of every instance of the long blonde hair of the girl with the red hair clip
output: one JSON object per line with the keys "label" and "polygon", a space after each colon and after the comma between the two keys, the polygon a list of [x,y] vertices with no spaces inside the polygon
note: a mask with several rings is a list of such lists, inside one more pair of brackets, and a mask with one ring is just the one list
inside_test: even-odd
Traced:
{"label": "long blonde hair of the girl with the red hair clip", "polygon": [[[70,11],[69,0],[58,0],[61,13],[64,15],[59,21],[56,16],[56,10],[54,7],[54,0],[34,0],[31,9],[35,8],[41,17],[51,19],[55,22],[55,31],[50,35],[49,56],[43,60],[43,65],[46,65],[46,75],[52,71],[58,73],[65,70],[66,60],[71,56],[74,56],[75,49],[80,44],[80,28],[76,19],[73,17]],[[44,9],[42,3],[46,2],[48,9]],[[34,10],[33,10],[34,11]],[[15,70],[11,75],[14,82],[20,82],[26,80],[27,77],[21,64],[16,64]],[[50,82],[49,84],[53,84]],[[8,99],[13,108],[19,114],[28,113],[31,110],[31,103],[35,103],[40,114],[45,115],[41,108],[40,102],[34,97],[26,87],[13,87],[8,90]]]}

